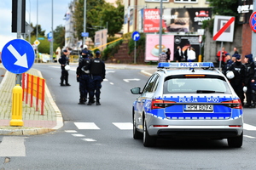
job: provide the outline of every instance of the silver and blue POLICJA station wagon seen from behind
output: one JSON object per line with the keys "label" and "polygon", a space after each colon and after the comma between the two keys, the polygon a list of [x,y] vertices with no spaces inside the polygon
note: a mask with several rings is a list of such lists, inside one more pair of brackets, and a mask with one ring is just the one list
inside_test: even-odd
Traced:
{"label": "silver and blue POLICJA station wagon seen from behind", "polygon": [[133,138],[146,147],[158,138],[227,139],[241,147],[241,100],[213,63],[159,63],[132,107]]}

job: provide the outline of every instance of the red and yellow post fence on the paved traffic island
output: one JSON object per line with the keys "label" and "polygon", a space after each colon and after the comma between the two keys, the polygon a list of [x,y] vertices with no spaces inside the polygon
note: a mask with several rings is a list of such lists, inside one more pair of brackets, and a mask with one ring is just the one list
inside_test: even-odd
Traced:
{"label": "red and yellow post fence on the paved traffic island", "polygon": [[44,86],[45,80],[42,77],[35,77],[28,73],[22,74],[22,100],[26,99],[28,103],[28,95],[30,94],[30,107],[32,107],[33,98],[36,99],[36,111],[39,108],[39,99],[41,100],[41,115],[44,115]]}

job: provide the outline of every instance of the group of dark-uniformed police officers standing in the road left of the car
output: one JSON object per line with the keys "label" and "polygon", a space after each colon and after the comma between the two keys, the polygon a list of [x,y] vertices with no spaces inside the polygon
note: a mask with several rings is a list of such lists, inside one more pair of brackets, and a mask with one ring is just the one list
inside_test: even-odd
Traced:
{"label": "group of dark-uniformed police officers standing in the road left of the car", "polygon": [[[59,59],[59,63],[61,64],[61,86],[70,86],[68,83],[68,70],[70,69],[68,54],[68,50],[64,49]],[[85,47],[80,54],[79,66],[76,71],[77,82],[79,82],[79,105],[85,105],[88,96],[87,105],[92,105],[95,102],[96,105],[101,105],[100,94],[102,81],[106,76],[105,64],[100,59],[101,52],[96,51],[94,58],[91,51]]]}

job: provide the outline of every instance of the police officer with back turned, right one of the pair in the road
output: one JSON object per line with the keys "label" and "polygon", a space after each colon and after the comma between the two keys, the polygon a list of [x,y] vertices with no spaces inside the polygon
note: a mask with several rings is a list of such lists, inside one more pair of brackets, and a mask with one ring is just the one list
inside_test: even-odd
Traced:
{"label": "police officer with back turned, right one of the pair in the road", "polygon": [[102,88],[102,81],[105,78],[106,70],[105,64],[100,59],[100,51],[96,51],[96,58],[90,61],[90,84],[89,84],[89,102],[88,105],[93,104],[94,94],[96,95],[96,105],[101,105],[100,94]]}

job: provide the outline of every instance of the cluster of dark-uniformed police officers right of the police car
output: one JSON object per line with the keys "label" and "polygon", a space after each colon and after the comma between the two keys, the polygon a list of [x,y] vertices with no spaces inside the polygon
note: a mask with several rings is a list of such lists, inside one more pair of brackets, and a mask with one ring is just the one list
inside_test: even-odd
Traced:
{"label": "cluster of dark-uniformed police officers right of the police car", "polygon": [[[253,54],[244,57],[244,64],[241,62],[241,55],[235,53],[224,54],[223,74],[230,80],[232,88],[241,99],[241,105],[254,108],[256,103],[256,62],[253,61]],[[246,94],[246,95],[245,95]],[[244,99],[246,96],[246,103]]]}

